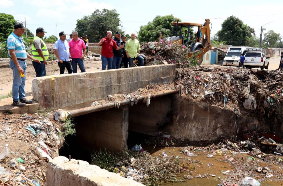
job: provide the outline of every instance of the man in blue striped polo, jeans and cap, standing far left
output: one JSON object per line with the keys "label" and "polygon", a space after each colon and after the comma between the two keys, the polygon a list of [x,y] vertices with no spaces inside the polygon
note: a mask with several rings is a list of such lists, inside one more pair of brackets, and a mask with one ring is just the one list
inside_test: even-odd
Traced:
{"label": "man in blue striped polo, jeans and cap, standing far left", "polygon": [[10,68],[13,70],[12,98],[13,106],[25,106],[33,101],[25,99],[25,72],[27,69],[26,59],[40,63],[25,51],[22,35],[25,31],[23,23],[15,23],[14,32],[7,38],[7,48],[10,57]]}

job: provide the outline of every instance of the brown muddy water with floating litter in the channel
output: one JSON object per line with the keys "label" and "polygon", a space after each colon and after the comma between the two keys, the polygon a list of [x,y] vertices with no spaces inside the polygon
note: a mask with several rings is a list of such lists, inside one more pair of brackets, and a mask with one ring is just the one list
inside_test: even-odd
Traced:
{"label": "brown muddy water with floating litter in the channel", "polygon": [[[148,148],[148,149],[147,149]],[[148,150],[151,152],[152,148],[150,147],[145,147],[145,150]],[[159,148],[155,149],[155,151],[152,153],[152,155],[161,155],[163,152],[165,152],[168,156],[181,156],[181,157],[188,157],[184,155],[183,153],[179,152],[179,147],[165,147],[165,148]],[[187,186],[187,185],[192,185],[192,186],[215,186],[220,183],[220,179],[225,180],[226,175],[221,173],[221,171],[226,171],[226,170],[233,170],[235,169],[234,167],[230,167],[229,163],[217,161],[218,159],[223,159],[225,154],[222,154],[219,156],[218,154],[214,155],[212,158],[207,158],[207,154],[202,154],[201,152],[196,152],[197,156],[190,156],[189,158],[198,160],[202,163],[200,165],[199,163],[195,163],[195,170],[193,170],[193,174],[191,176],[195,177],[198,174],[204,175],[204,174],[214,174],[216,177],[212,176],[207,176],[204,178],[192,178],[191,180],[186,180],[186,182],[178,182],[178,183],[162,183],[162,185],[171,185],[171,186]],[[246,158],[246,154],[237,154],[235,155],[235,159],[237,158]],[[228,156],[229,157],[229,156]],[[212,166],[207,166],[208,163],[212,163]],[[261,167],[266,167],[267,162],[259,162],[258,163]],[[193,165],[191,164],[189,169],[192,168]],[[272,166],[274,169],[276,169],[276,166]],[[183,173],[179,175],[179,178],[183,178],[183,176],[187,175],[187,173]],[[235,181],[237,183],[238,181]],[[276,182],[274,180],[272,181],[263,181],[261,182],[262,186],[282,186],[283,182]]]}

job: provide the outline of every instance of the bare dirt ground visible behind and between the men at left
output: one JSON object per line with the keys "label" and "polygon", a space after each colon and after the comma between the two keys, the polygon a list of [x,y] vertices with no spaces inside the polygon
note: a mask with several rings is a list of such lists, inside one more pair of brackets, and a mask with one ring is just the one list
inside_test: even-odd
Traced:
{"label": "bare dirt ground visible behind and between the men at left", "polygon": [[[101,70],[101,61],[94,61],[85,59],[84,61],[85,69],[87,72],[90,71],[100,71]],[[78,72],[80,68],[78,68]],[[65,69],[65,73],[68,71]],[[57,61],[49,61],[48,65],[46,65],[46,75],[57,75],[60,74],[60,69]],[[26,71],[26,82],[25,82],[25,92],[31,93],[32,80],[35,78],[35,69],[31,61],[27,62],[27,71]],[[12,91],[12,83],[13,83],[13,73],[12,69],[5,64],[0,66],[0,95],[7,95]]]}

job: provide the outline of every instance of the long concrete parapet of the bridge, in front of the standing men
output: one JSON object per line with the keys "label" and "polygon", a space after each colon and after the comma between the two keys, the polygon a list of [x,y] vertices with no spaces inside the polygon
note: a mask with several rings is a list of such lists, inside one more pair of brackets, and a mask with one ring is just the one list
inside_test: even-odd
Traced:
{"label": "long concrete parapet of the bridge, in front of the standing men", "polygon": [[41,108],[73,109],[107,95],[134,92],[150,83],[171,83],[175,76],[173,64],[45,76],[33,79],[32,93]]}

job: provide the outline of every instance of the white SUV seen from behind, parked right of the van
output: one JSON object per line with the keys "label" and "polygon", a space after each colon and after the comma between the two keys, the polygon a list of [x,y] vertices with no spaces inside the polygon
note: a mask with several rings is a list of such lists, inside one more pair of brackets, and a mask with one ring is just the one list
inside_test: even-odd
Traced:
{"label": "white SUV seen from behind, parked right of the van", "polygon": [[246,52],[244,65],[248,69],[260,67],[261,70],[268,69],[269,57],[266,58],[263,52]]}

